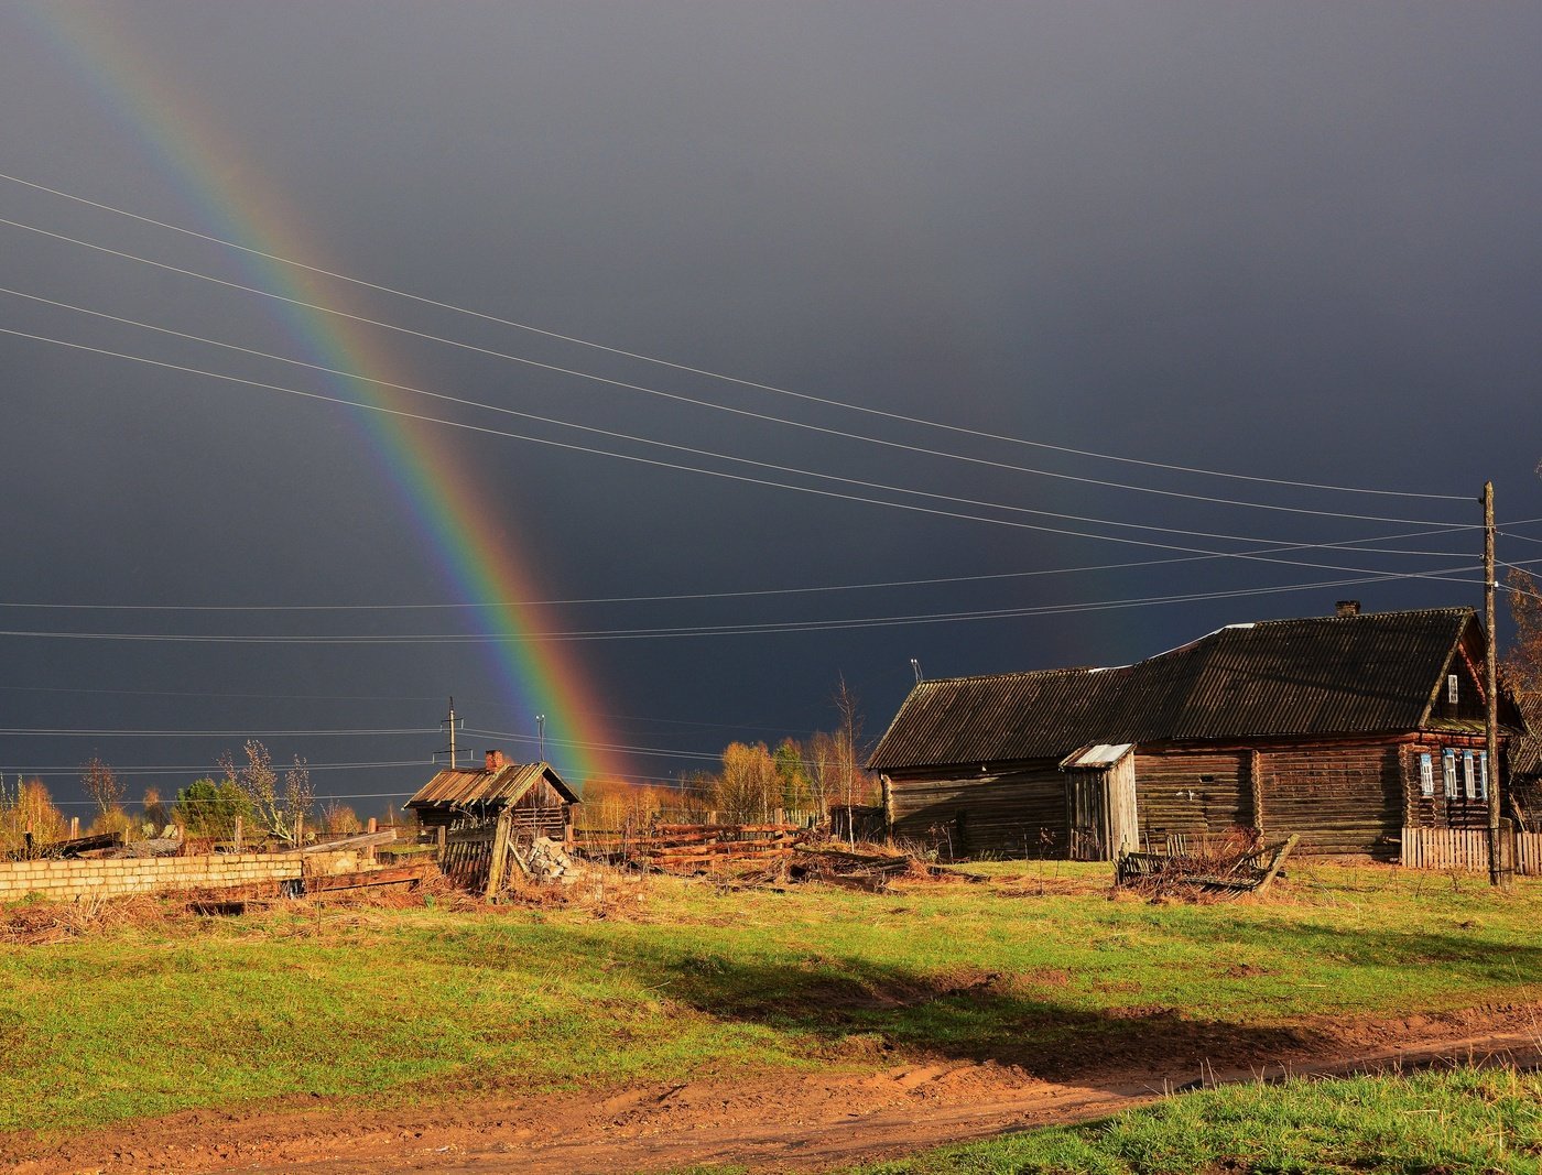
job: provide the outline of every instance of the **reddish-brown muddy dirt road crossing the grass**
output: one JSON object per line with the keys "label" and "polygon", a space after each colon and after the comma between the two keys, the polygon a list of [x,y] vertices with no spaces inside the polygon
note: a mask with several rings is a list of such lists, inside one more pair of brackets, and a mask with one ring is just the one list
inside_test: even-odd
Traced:
{"label": "reddish-brown muddy dirt road crossing the grass", "polygon": [[[1542,1064],[1542,1008],[1474,1008],[1412,1021],[1312,1025],[1298,1049],[1243,1056],[1217,1047],[1194,1062],[1126,1056],[1035,1076],[968,1062],[882,1073],[757,1075],[643,1086],[609,1095],[447,1098],[409,1112],[316,1099],[256,1110],[193,1112],[45,1143],[0,1140],[17,1175],[65,1172],[281,1172],[364,1175],[566,1175],[646,1172],[692,1163],[817,1170],[1002,1130],[1081,1121],[1198,1084],[1348,1075],[1493,1058]],[[1166,1064],[1164,1064],[1166,1061]],[[1072,1070],[1078,1066],[1070,1066]]]}

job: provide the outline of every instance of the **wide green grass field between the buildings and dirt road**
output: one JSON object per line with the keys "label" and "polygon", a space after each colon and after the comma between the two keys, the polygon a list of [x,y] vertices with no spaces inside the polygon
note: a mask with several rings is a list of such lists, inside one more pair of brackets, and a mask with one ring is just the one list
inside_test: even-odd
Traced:
{"label": "wide green grass field between the buildings and dirt road", "polygon": [[1152,904],[1110,897],[1107,865],[981,871],[891,894],[660,877],[625,913],[301,902],[0,945],[0,1130],[910,1056],[1197,1066],[1197,1030],[1269,1056],[1321,1016],[1542,998],[1536,879],[1317,867],[1264,901]]}

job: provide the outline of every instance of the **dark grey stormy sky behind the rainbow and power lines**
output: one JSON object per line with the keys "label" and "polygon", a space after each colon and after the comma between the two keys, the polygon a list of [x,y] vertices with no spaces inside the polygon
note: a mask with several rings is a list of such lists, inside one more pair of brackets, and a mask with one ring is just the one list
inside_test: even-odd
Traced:
{"label": "dark grey stormy sky behind the rainbow and power lines", "polygon": [[[672,777],[830,728],[842,677],[876,737],[910,658],[1480,606],[1485,478],[1542,558],[1539,45],[1534,3],[3,3],[0,771],[171,793],[267,732],[404,763],[318,773],[373,814],[449,694],[463,746],[534,757],[546,712],[560,769]],[[191,276],[298,271],[111,210],[396,330],[328,352]],[[544,611],[600,637],[544,646],[591,712],[475,641],[103,638],[507,634],[194,611],[486,603],[378,418],[253,385],[345,381],[196,339],[472,401],[353,387],[490,430],[412,435],[530,598],[609,601]]]}

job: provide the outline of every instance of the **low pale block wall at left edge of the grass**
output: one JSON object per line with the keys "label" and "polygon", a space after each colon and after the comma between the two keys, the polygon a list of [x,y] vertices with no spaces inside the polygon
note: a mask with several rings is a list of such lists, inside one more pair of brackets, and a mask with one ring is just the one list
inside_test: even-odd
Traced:
{"label": "low pale block wall at left edge of the grass", "polygon": [[[336,870],[316,857],[295,853],[219,853],[199,857],[145,857],[142,860],[11,860],[0,862],[0,902],[31,893],[56,902],[77,897],[123,897],[174,890],[230,890],[261,882],[293,880],[302,868]],[[318,870],[318,865],[321,867]]]}

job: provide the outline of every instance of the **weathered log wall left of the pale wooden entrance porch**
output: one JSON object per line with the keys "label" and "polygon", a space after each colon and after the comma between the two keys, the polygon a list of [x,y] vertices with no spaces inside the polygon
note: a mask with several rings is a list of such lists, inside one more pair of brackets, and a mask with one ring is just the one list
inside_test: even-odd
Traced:
{"label": "weathered log wall left of the pale wooden entrance porch", "polygon": [[893,834],[954,857],[1064,856],[1066,776],[1056,760],[945,779],[891,777]]}

